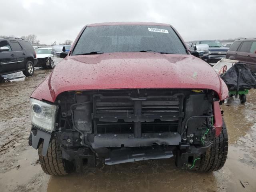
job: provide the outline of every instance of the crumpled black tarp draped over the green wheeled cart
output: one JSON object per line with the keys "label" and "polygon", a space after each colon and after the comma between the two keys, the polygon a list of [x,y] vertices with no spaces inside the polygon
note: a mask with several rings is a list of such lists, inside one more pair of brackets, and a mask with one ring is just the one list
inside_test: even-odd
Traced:
{"label": "crumpled black tarp draped over the green wheeled cart", "polygon": [[234,64],[220,77],[228,86],[229,91],[256,88],[256,75],[246,68],[244,63]]}

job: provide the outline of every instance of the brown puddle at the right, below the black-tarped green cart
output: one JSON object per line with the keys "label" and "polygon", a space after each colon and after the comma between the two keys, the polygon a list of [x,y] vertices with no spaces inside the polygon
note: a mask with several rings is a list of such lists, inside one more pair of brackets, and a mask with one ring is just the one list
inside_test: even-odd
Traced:
{"label": "brown puddle at the right, below the black-tarped green cart", "polygon": [[247,101],[240,104],[239,98],[228,98],[221,108],[224,110],[224,120],[228,129],[228,140],[234,144],[240,137],[250,131],[256,122],[256,90],[249,90]]}

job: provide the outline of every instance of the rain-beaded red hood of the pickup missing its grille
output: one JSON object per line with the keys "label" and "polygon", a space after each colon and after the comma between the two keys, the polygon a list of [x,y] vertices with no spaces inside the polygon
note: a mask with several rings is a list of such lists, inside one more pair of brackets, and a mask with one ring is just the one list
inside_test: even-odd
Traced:
{"label": "rain-beaded red hood of the pickup missing its grille", "polygon": [[228,93],[214,69],[192,55],[118,52],[67,56],[31,97],[54,102],[65,91],[138,88],[211,89],[221,100]]}

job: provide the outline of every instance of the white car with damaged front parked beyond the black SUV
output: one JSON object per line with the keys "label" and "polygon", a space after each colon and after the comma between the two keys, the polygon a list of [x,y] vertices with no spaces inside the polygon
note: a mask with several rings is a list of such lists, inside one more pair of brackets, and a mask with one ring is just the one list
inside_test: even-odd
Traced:
{"label": "white car with damaged front parked beyond the black SUV", "polygon": [[37,64],[34,67],[48,67],[50,69],[54,68],[54,56],[52,54],[52,48],[39,48],[35,50],[37,57]]}

